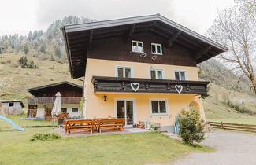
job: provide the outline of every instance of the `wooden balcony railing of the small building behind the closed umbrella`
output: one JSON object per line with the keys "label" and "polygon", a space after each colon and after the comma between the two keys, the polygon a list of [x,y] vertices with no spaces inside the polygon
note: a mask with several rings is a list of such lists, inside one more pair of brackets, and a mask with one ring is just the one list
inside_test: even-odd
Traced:
{"label": "wooden balcony railing of the small building behind the closed umbrella", "polygon": [[[53,105],[56,97],[28,97],[28,105]],[[81,97],[61,97],[61,104],[79,104]]]}

